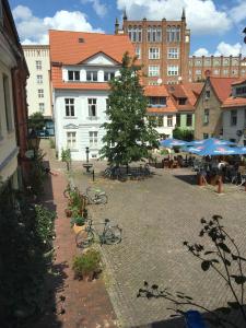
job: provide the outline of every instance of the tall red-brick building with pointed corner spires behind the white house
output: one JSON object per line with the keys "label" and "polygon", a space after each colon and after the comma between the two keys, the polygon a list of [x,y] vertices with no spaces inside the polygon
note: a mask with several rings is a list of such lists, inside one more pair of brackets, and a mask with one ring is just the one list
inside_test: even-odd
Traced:
{"label": "tall red-brick building with pointed corner spires behind the white house", "polygon": [[115,34],[128,34],[143,65],[143,83],[157,85],[188,80],[190,31],[185,11],[180,21],[128,21],[124,14],[122,28],[116,20]]}

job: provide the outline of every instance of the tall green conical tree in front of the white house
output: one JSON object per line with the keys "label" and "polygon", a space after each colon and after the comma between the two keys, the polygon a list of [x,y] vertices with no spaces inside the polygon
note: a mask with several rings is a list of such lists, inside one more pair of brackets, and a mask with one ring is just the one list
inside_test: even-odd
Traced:
{"label": "tall green conical tree in front of the white house", "polygon": [[102,126],[106,134],[101,154],[110,165],[140,161],[148,157],[149,149],[159,145],[154,124],[145,119],[148,103],[139,81],[141,67],[136,65],[136,60],[126,52],[120,75],[109,82],[106,109],[109,122]]}

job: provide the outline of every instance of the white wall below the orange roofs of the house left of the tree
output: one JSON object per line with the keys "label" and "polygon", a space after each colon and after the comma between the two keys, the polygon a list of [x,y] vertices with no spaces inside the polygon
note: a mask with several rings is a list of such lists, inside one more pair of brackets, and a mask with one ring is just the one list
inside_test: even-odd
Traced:
{"label": "white wall below the orange roofs of the house left of the tree", "polygon": [[[105,131],[101,126],[106,121],[106,91],[56,91],[55,93],[55,124],[56,141],[59,156],[61,150],[67,149],[67,132],[77,132],[77,147],[71,151],[72,160],[84,161],[85,148],[90,148],[90,157],[96,155],[103,147],[102,138]],[[97,99],[96,119],[89,118],[87,98]],[[74,98],[74,117],[66,117],[65,98]],[[69,126],[70,125],[70,126]],[[97,131],[97,147],[90,147],[89,132]]]}

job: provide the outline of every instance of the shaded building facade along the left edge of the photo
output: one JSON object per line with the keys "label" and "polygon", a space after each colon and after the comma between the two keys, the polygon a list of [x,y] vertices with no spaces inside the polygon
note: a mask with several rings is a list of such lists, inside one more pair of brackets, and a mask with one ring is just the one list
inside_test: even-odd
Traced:
{"label": "shaded building facade along the left edge of the photo", "polygon": [[7,0],[0,1],[0,179],[19,188],[27,175],[28,70]]}

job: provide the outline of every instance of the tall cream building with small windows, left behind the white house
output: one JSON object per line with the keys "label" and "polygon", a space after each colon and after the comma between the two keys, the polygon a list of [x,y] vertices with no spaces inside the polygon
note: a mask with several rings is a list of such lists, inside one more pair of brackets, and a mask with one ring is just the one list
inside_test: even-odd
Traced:
{"label": "tall cream building with small windows, left behind the white house", "polygon": [[27,81],[28,116],[42,113],[46,120],[48,134],[54,136],[51,89],[50,89],[50,59],[49,46],[22,46],[30,70]]}

